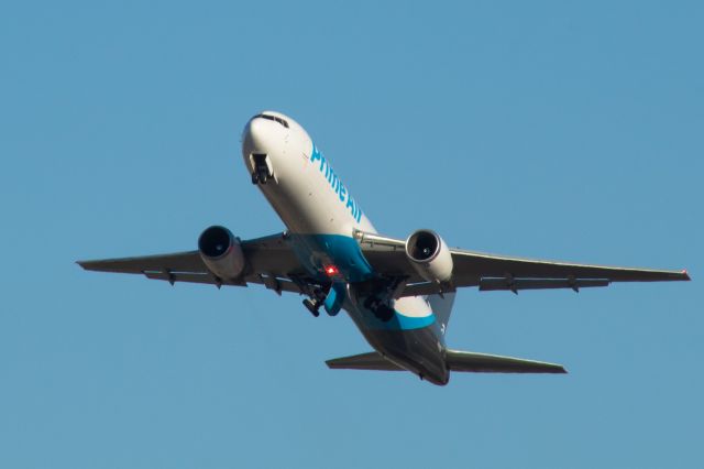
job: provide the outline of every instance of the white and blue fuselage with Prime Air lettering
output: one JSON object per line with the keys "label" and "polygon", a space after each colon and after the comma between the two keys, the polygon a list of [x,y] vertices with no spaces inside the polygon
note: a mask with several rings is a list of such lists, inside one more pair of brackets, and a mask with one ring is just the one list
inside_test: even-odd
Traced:
{"label": "white and blue fuselage with Prime Air lettering", "polygon": [[[424,297],[391,299],[394,318],[382,321],[355,294],[355,285],[373,281],[374,272],[354,231],[376,230],[304,128],[277,112],[257,114],[244,128],[242,155],[250,173],[266,166],[268,178],[258,186],[288,228],[301,263],[312,276],[344,285],[342,307],[372,347],[409,371],[447,382],[444,340]],[[330,279],[331,265],[337,272]]]}

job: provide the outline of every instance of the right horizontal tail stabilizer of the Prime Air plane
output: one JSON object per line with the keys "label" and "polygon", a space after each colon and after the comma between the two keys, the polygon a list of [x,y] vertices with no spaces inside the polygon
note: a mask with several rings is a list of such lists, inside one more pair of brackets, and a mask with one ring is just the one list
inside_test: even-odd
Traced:
{"label": "right horizontal tail stabilizer of the Prime Air plane", "polygon": [[458,350],[448,350],[447,362],[451,371],[474,373],[566,373],[557,363]]}

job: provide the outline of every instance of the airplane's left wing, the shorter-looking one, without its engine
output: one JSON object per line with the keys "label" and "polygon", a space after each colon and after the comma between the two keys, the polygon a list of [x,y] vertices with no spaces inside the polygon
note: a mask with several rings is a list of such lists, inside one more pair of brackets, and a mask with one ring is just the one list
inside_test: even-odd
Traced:
{"label": "airplane's left wing, the shorter-looking one, without its engine", "polygon": [[89,271],[143,274],[147,279],[217,285],[246,286],[255,283],[280,294],[282,292],[307,293],[314,282],[302,270],[298,259],[283,233],[241,242],[246,259],[244,273],[238,282],[217,279],[200,259],[198,251],[138,258],[78,261]]}

